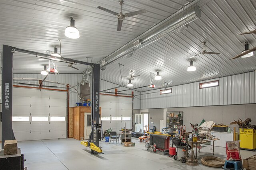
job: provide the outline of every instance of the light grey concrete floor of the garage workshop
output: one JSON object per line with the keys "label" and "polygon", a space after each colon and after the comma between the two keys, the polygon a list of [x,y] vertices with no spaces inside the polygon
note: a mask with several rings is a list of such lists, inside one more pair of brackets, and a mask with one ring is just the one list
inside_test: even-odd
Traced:
{"label": "light grey concrete floor of the garage workshop", "polygon": [[[188,166],[180,161],[173,160],[158,151],[157,153],[146,151],[145,143],[140,143],[136,138],[132,139],[135,147],[124,147],[115,143],[100,141],[104,154],[91,155],[89,148],[80,145],[76,139],[52,139],[42,141],[18,142],[26,162],[28,170],[211,170],[203,166]],[[212,147],[206,145],[200,153],[198,160],[203,156],[212,155]],[[240,150],[242,158],[248,158],[256,152]],[[215,147],[215,156],[225,159],[226,149]],[[200,161],[199,161],[200,162]]]}

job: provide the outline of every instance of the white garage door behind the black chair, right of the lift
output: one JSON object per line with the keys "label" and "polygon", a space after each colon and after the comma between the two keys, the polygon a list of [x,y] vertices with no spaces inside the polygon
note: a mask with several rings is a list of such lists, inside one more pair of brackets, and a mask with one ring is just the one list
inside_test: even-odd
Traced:
{"label": "white garage door behind the black chair, right of the lift", "polygon": [[100,107],[103,130],[120,133],[125,123],[132,128],[132,98],[100,95]]}

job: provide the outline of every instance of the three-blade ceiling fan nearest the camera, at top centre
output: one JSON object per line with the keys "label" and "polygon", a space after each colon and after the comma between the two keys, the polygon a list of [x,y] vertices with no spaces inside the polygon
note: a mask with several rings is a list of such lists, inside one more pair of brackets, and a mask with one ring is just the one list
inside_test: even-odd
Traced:
{"label": "three-blade ceiling fan nearest the camera, at top centre", "polygon": [[146,12],[146,10],[139,10],[139,11],[134,11],[134,12],[128,12],[126,14],[123,14],[122,13],[122,5],[124,4],[124,1],[123,0],[120,0],[119,1],[119,4],[121,6],[121,11],[120,13],[118,14],[117,12],[114,12],[114,11],[111,11],[111,10],[108,10],[106,8],[103,8],[101,6],[98,6],[98,8],[100,10],[103,10],[103,11],[106,11],[110,14],[113,14],[115,16],[117,16],[117,19],[118,19],[118,23],[117,23],[117,31],[121,31],[121,27],[122,27],[122,23],[123,23],[123,20],[125,17],[131,17],[131,16],[135,16],[135,15],[138,15],[138,14],[143,14]]}

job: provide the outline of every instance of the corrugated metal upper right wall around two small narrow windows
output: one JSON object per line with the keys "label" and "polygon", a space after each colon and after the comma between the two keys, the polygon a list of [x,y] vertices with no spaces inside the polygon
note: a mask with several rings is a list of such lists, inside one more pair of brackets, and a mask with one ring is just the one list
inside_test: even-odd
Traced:
{"label": "corrugated metal upper right wall around two small narrow windows", "polygon": [[[199,83],[220,80],[220,86],[199,89]],[[172,94],[160,95],[159,89],[141,92],[141,109],[215,106],[256,103],[256,72],[215,78],[172,87]],[[153,94],[146,94],[156,92]]]}

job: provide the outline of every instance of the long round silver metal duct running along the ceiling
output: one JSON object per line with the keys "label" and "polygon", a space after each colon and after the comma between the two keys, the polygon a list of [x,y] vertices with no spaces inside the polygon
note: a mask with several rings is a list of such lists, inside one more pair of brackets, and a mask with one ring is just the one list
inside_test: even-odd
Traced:
{"label": "long round silver metal duct running along the ceiling", "polygon": [[[179,29],[180,27],[198,19],[201,17],[201,9],[198,6],[188,8],[184,11],[180,10],[179,14],[172,15],[166,20],[155,25],[142,35],[138,36],[136,39],[130,41],[120,49],[116,50],[114,53],[107,56],[105,59],[100,61],[100,68],[107,66],[114,61],[130,55],[134,51],[153,43],[154,41],[168,35],[169,33]],[[134,42],[140,40],[141,44],[134,47]]]}

